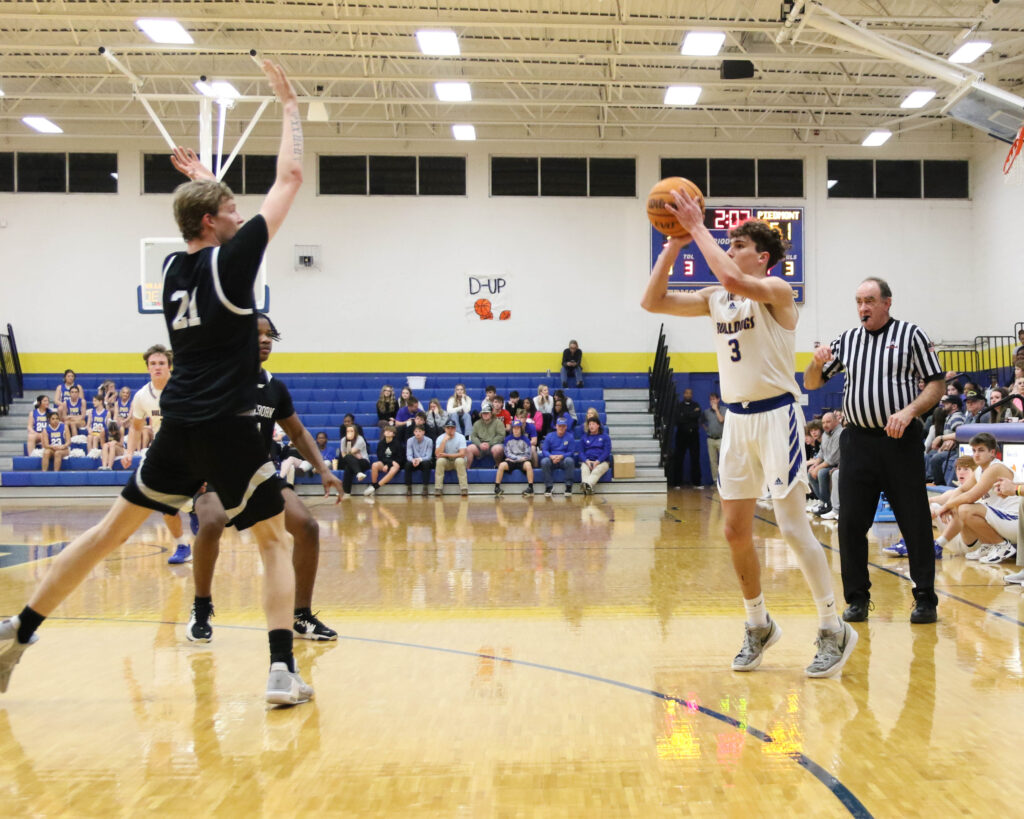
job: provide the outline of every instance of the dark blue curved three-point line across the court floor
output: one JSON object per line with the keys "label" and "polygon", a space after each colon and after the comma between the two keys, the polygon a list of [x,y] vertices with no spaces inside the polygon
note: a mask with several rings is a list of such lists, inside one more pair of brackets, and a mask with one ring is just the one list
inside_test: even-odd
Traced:
{"label": "dark blue curved three-point line across the court floor", "polygon": [[[91,620],[94,622],[133,622],[133,623],[145,623],[145,624],[159,624],[159,626],[184,626],[182,622],[171,622],[168,620],[144,620],[144,619],[124,619],[115,617],[51,617],[54,620]],[[218,626],[218,629],[234,629],[238,631],[264,631],[257,626]],[[607,677],[598,677],[593,674],[587,674],[586,672],[578,672],[572,669],[562,669],[558,665],[546,665],[542,662],[531,662],[530,660],[524,659],[512,659],[509,657],[502,657],[497,654],[481,654],[478,651],[465,651],[458,648],[443,648],[441,646],[428,646],[421,643],[406,643],[397,640],[382,640],[380,638],[374,637],[350,637],[347,635],[338,635],[338,640],[348,640],[353,643],[371,643],[375,645],[384,646],[394,646],[396,648],[414,648],[420,651],[436,651],[442,654],[455,654],[456,656],[462,657],[474,657],[478,659],[489,659],[496,662],[507,662],[509,664],[521,665],[527,669],[537,669],[539,671],[545,672],[555,672],[556,674],[565,674],[570,677],[578,677],[582,680],[589,680],[595,683],[603,683],[604,685],[615,686],[616,688],[625,689],[626,691],[632,691],[637,694],[644,694],[646,696],[656,697],[657,699],[665,700],[667,702],[676,702],[684,707],[695,710],[698,714],[702,714],[705,717],[711,717],[713,720],[718,720],[721,723],[732,728],[742,729],[744,733],[754,737],[765,743],[774,742],[775,740],[770,734],[755,728],[752,725],[743,725],[738,720],[728,715],[722,714],[721,712],[713,710],[703,705],[698,705],[697,703],[681,699],[679,697],[674,697],[671,694],[666,694],[663,691],[655,691],[652,688],[644,688],[642,686],[633,685],[632,683],[624,683],[621,680],[611,680]],[[816,762],[800,752],[792,752],[786,755],[788,758],[797,763],[801,768],[809,772],[815,779],[817,779],[821,784],[823,784],[833,795],[836,796],[843,805],[850,815],[856,817],[856,819],[872,819],[871,813],[863,806],[863,804],[858,800],[853,792],[842,782],[839,781],[835,776],[828,773],[824,768],[818,765]]]}

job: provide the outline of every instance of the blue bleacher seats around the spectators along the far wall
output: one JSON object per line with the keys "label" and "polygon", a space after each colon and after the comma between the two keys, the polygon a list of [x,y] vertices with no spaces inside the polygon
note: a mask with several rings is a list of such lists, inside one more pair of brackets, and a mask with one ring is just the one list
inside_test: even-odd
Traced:
{"label": "blue bleacher seats around the spectators along the far wall", "polygon": [[[345,414],[351,413],[355,417],[356,423],[362,427],[371,460],[373,460],[377,441],[380,438],[380,430],[377,426],[377,398],[380,394],[380,388],[384,384],[391,384],[397,390],[406,384],[406,376],[395,374],[310,375],[300,373],[275,375],[280,375],[281,379],[288,385],[295,404],[295,412],[302,419],[306,428],[313,435],[321,431],[327,432],[331,445],[339,445],[339,428]],[[79,375],[77,383],[88,396],[108,378],[113,379],[118,387],[129,386],[133,391],[144,386],[148,381],[144,374],[135,373],[120,376]],[[520,397],[526,395],[532,397],[539,384],[547,384],[552,392],[560,386],[557,375],[549,378],[535,374],[495,376],[428,374],[426,379],[426,386],[416,390],[423,406],[426,406],[431,397],[440,398],[442,403],[445,402],[449,396],[455,392],[456,384],[465,384],[466,393],[473,399],[474,410],[479,408],[480,401],[484,396],[484,387],[488,384],[493,384],[498,392],[506,398],[510,390],[518,390]],[[27,374],[25,376],[25,393],[26,395],[52,394],[59,381],[59,374]],[[586,387],[582,389],[566,388],[565,394],[573,400],[581,423],[587,408],[593,406],[597,410],[603,424],[606,421],[605,389],[646,389],[646,374],[601,375],[588,373]],[[613,430],[611,430],[611,434],[614,435]],[[135,466],[137,466],[137,459],[132,468]],[[15,457],[13,471],[3,473],[2,484],[4,486],[117,486],[125,483],[131,471],[130,469],[124,470],[120,460],[115,462],[113,470],[99,471],[99,459],[96,458],[65,459],[61,470],[57,473],[41,472],[40,467],[40,459],[29,457],[28,452],[25,452],[25,457]],[[340,476],[340,473],[337,474]],[[475,460],[468,472],[471,483],[493,483],[495,474],[495,464],[489,456]],[[455,482],[456,480],[454,473],[445,475],[445,482]],[[574,480],[580,480],[579,469],[575,470]],[[609,470],[601,480],[611,480],[611,471]],[[542,482],[540,475],[537,476],[536,481],[537,483]],[[315,475],[298,477],[297,482],[318,483],[319,478]],[[364,483],[368,482],[369,478],[364,481]],[[399,473],[392,479],[391,485],[400,486],[403,482],[404,475]],[[511,473],[506,475],[504,482],[524,483],[525,476],[521,473]],[[418,488],[419,481],[416,480],[414,485]]]}

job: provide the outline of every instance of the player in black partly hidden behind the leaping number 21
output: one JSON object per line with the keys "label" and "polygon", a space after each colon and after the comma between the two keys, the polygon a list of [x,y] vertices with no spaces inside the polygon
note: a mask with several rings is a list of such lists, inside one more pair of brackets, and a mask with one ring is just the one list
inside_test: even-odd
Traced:
{"label": "player in black partly hidden behind the leaping number 21", "polygon": [[[278,329],[268,316],[260,314],[257,317],[259,332],[259,359],[266,361],[273,349],[273,342],[281,339]],[[281,379],[273,378],[266,370],[260,370],[257,384],[256,418],[263,434],[263,443],[269,457],[273,443],[273,425],[281,424],[292,445],[310,464],[315,464],[324,482],[324,494],[329,495],[334,488],[341,503],[341,481],[331,471],[324,461],[316,442],[309,430],[305,428],[295,413],[291,393]],[[329,629],[312,612],[313,585],[316,583],[316,566],[319,562],[319,526],[309,513],[306,505],[299,500],[289,483],[276,475],[271,479],[279,481],[282,494],[285,498],[285,528],[295,538],[292,551],[292,565],[295,567],[295,634],[306,640],[337,640],[338,633]],[[193,577],[196,581],[196,602],[193,604],[191,617],[185,629],[185,637],[193,642],[209,643],[213,638],[210,617],[213,614],[213,569],[220,554],[220,535],[227,525],[227,515],[220,503],[215,486],[207,486],[207,490],[196,499],[196,516],[199,518],[199,531],[195,543],[195,561]]]}

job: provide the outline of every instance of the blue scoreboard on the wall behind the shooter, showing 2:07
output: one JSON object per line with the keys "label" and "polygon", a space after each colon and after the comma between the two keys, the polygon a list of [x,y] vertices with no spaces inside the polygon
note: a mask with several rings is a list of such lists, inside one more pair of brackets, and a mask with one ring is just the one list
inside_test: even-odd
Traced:
{"label": "blue scoreboard on the wall behind the shooter, showing 2:07", "polygon": [[[705,210],[705,226],[715,236],[723,250],[729,249],[729,230],[748,219],[762,219],[773,227],[777,227],[782,238],[790,243],[785,258],[772,267],[769,275],[784,278],[792,287],[798,304],[804,302],[804,209],[803,208],[749,208],[724,205],[717,208],[708,207]],[[662,253],[665,236],[653,227],[650,228],[650,264]],[[718,278],[711,271],[697,248],[691,242],[679,252],[679,258],[669,275],[669,290],[699,290],[710,285],[717,285]]]}

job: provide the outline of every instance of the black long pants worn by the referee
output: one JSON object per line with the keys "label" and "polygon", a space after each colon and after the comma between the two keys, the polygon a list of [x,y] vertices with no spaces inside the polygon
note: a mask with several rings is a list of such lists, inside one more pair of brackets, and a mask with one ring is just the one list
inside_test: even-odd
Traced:
{"label": "black long pants worn by the referee", "polygon": [[914,600],[938,604],[935,596],[935,544],[925,488],[924,427],[910,424],[901,438],[884,430],[849,426],[840,438],[839,551],[847,603],[870,599],[867,531],[874,522],[879,493],[889,499],[906,540]]}

